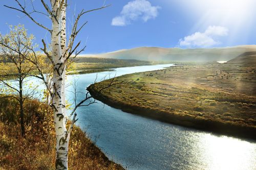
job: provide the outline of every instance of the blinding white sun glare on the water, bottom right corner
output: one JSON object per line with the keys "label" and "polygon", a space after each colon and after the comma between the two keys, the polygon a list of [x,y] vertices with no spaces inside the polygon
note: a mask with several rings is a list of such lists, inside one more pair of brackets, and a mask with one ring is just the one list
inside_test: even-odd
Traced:
{"label": "blinding white sun glare on the water, bottom right corner", "polygon": [[207,162],[207,169],[254,169],[256,148],[250,142],[205,134],[200,143],[203,143],[201,147],[205,152],[201,156]]}

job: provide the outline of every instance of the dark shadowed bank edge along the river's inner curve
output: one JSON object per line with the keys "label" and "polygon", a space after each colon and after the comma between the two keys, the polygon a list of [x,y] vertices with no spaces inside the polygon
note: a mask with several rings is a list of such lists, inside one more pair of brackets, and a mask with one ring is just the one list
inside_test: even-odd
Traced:
{"label": "dark shadowed bank edge along the river's inner curve", "polygon": [[184,116],[175,113],[170,114],[164,110],[148,109],[143,106],[139,107],[129,105],[120,101],[117,102],[111,100],[108,96],[94,90],[93,85],[90,85],[87,89],[94,99],[101,101],[102,103],[113,108],[121,109],[127,113],[137,114],[147,118],[159,120],[161,122],[212,132],[219,135],[228,135],[237,138],[256,140],[256,136],[254,135],[256,133],[256,128],[252,126],[234,126],[228,122],[222,123],[210,119],[193,118],[189,115]]}

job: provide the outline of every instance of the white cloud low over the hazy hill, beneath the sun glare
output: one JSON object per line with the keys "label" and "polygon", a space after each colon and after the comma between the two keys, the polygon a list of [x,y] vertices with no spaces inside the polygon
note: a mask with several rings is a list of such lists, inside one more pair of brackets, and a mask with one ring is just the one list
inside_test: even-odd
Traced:
{"label": "white cloud low over the hazy hill, beneath the sun glare", "polygon": [[204,33],[196,32],[180,39],[180,46],[188,47],[210,47],[221,44],[216,40],[218,37],[228,35],[228,29],[220,26],[209,26]]}

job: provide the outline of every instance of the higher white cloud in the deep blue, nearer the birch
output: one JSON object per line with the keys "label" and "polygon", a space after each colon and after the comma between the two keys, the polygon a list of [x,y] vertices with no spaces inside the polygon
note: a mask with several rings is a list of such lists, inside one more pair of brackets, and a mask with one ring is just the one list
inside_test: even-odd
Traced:
{"label": "higher white cloud in the deep blue, nearer the birch", "polygon": [[126,26],[135,20],[143,20],[146,22],[148,19],[154,19],[158,15],[159,6],[152,6],[146,0],[131,1],[125,6],[119,16],[112,19],[112,26]]}

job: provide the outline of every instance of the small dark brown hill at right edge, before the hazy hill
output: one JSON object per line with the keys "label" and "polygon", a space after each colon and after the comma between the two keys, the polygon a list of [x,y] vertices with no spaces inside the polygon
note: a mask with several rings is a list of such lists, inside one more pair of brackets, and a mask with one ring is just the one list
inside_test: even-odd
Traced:
{"label": "small dark brown hill at right edge, before the hazy hill", "polygon": [[229,60],[230,64],[256,64],[256,51],[245,52],[238,57]]}

